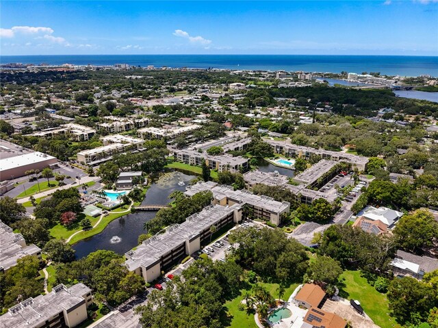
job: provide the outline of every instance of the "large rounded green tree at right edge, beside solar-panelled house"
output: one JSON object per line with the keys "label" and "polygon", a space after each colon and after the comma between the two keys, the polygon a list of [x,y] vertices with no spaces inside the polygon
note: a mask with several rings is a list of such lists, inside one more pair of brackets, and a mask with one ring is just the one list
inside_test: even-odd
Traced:
{"label": "large rounded green tree at right edge, beside solar-panelled house", "polygon": [[437,240],[438,223],[428,210],[415,210],[398,221],[394,235],[403,249],[420,251],[422,247],[432,246]]}

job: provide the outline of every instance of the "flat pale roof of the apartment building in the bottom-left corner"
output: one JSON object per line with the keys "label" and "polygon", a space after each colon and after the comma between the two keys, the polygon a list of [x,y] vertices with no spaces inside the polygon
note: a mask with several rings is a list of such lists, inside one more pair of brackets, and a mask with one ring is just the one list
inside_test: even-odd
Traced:
{"label": "flat pale roof of the apartment building in the bottom-left corner", "polygon": [[8,310],[8,313],[0,316],[0,321],[5,327],[28,328],[38,327],[46,320],[56,316],[64,310],[68,311],[82,302],[83,295],[87,295],[91,289],[84,284],[75,284],[70,288],[58,285],[46,295],[29,298]]}

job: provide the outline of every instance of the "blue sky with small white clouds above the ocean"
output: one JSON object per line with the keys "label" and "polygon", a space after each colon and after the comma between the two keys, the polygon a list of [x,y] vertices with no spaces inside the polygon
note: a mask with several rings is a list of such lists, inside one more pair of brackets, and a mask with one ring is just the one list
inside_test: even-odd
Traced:
{"label": "blue sky with small white clouds above the ocean", "polygon": [[1,55],[438,55],[438,0],[1,1]]}

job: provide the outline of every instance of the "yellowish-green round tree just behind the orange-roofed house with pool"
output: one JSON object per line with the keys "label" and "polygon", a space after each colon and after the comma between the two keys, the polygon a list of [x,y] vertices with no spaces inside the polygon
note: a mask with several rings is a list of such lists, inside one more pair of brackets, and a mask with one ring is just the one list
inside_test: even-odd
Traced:
{"label": "yellowish-green round tree just behind the orange-roofed house with pool", "polygon": [[317,256],[314,261],[310,262],[308,274],[316,282],[335,284],[339,275],[342,274],[342,268],[339,262],[329,256]]}

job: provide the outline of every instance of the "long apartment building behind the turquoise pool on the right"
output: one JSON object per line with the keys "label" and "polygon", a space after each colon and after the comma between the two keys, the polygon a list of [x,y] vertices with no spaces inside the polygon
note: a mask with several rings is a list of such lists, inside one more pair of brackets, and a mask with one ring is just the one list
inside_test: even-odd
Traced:
{"label": "long apartment building behind the turquoise pool on the right", "polygon": [[357,167],[359,171],[364,172],[367,168],[368,157],[357,156],[354,154],[347,154],[346,152],[333,152],[331,150],[315,149],[305,146],[297,146],[289,141],[274,141],[266,140],[274,148],[277,154],[285,154],[290,157],[300,157],[309,159],[311,154],[320,155],[322,159],[329,159],[332,161],[344,161],[350,163],[352,167]]}

